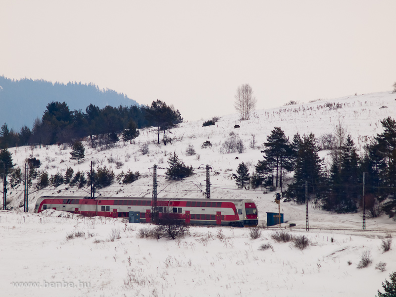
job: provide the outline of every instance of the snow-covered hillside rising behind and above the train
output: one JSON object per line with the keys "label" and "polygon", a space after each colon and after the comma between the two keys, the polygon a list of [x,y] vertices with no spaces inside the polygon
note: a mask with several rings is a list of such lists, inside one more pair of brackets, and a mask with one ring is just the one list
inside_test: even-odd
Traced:
{"label": "snow-covered hillside rising behind and above the train", "polygon": [[[262,214],[276,209],[273,203],[274,194],[264,194],[261,190],[237,189],[231,174],[236,172],[241,162],[248,164],[250,173],[253,172],[254,165],[262,159],[260,148],[274,127],[281,127],[290,138],[296,132],[300,135],[313,132],[318,138],[322,134],[334,133],[335,125],[342,123],[352,135],[358,149],[362,149],[373,136],[382,132],[380,121],[393,115],[396,115],[396,94],[383,92],[256,110],[247,121],[240,121],[238,114],[231,114],[220,117],[214,126],[202,127],[203,121],[182,123],[170,130],[167,137],[172,139],[172,142],[167,142],[166,146],[162,142],[156,144],[155,128],[142,129],[133,144],[120,141],[110,149],[90,148],[89,143],[86,142],[86,157],[82,164],[70,159],[71,148],[64,149],[62,146],[20,147],[10,148],[10,151],[16,166],[23,168],[26,158],[35,157],[41,161],[40,169],[46,170],[49,174],[56,172],[64,174],[67,167],[73,168],[74,172],[86,171],[90,169],[91,161],[95,166],[105,165],[112,168],[116,175],[121,171],[139,171],[143,177],[138,181],[130,185],[114,183],[99,191],[102,196],[118,197],[151,197],[152,174],[149,168],[154,164],[162,168],[167,167],[169,154],[175,151],[185,164],[195,168],[195,174],[184,181],[170,182],[165,179],[165,170],[158,169],[158,197],[202,197],[205,188],[204,165],[209,164],[212,168],[211,196],[256,199],[261,213],[260,219],[265,220]],[[240,128],[235,129],[235,124]],[[244,141],[246,147],[244,153],[221,153],[222,143],[230,133],[239,135]],[[255,146],[251,148],[253,135]],[[213,146],[201,148],[205,141],[210,141]],[[143,155],[140,152],[143,144],[148,144],[148,154]],[[195,155],[186,155],[186,148],[189,145],[194,146]],[[321,152],[322,156],[326,154],[326,151]],[[120,161],[123,165],[116,168],[115,161]],[[35,193],[33,191],[36,190],[33,188],[30,189],[32,194],[29,196],[30,211],[34,208],[35,200],[42,195],[88,195],[86,192],[88,189],[78,190],[66,185],[56,189],[49,187]],[[23,186],[9,190],[8,199],[11,200],[10,205],[13,209],[19,209],[23,201]],[[284,207],[291,207],[290,212],[285,210],[285,219],[288,221],[299,222],[305,219],[303,214],[293,211],[298,206],[285,204]]]}

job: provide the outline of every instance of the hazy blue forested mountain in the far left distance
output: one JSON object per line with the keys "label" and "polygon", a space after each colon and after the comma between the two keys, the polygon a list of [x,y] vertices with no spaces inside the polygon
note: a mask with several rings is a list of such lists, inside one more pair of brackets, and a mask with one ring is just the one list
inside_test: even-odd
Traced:
{"label": "hazy blue forested mountain in the far left distance", "polygon": [[43,116],[51,101],[66,102],[70,110],[83,109],[94,104],[100,108],[110,106],[139,105],[126,95],[113,90],[100,90],[98,86],[81,83],[51,83],[45,80],[14,80],[0,76],[0,125],[4,122],[18,132]]}

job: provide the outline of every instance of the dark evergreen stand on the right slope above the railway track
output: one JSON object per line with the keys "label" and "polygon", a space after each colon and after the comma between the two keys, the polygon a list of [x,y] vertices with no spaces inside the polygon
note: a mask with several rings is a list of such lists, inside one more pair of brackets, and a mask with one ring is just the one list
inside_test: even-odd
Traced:
{"label": "dark evergreen stand on the right slope above the railway track", "polygon": [[[286,200],[302,204],[307,195],[325,210],[347,213],[356,212],[362,205],[364,174],[368,216],[377,217],[385,211],[395,217],[396,121],[387,117],[381,124],[384,132],[377,134],[359,155],[351,136],[339,123],[329,169],[325,159],[319,157],[320,147],[313,133],[302,137],[296,133],[290,141],[281,128],[275,127],[263,145],[263,159],[257,162],[253,174],[250,176],[242,162],[233,177],[240,188],[280,188]],[[285,187],[285,174],[292,171],[294,178]]]}

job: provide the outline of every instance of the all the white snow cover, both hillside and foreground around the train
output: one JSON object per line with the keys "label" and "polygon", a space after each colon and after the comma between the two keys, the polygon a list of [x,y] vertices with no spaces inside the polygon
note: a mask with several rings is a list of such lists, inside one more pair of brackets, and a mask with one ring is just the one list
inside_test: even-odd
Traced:
{"label": "all the white snow cover, both hillside and foreground around the train", "polygon": [[[329,104],[339,103],[341,108]],[[385,107],[386,106],[386,107]],[[100,150],[86,147],[82,164],[70,160],[70,148],[10,148],[16,166],[23,168],[28,157],[40,159],[49,174],[67,167],[74,171],[89,170],[91,161],[121,171],[139,171],[143,177],[130,185],[113,185],[99,190],[102,196],[151,197],[154,164],[167,167],[169,153],[175,151],[195,175],[184,181],[170,182],[165,170],[158,169],[158,197],[203,197],[205,170],[211,172],[212,198],[251,198],[258,205],[259,224],[265,224],[265,212],[276,212],[274,193],[237,189],[231,174],[242,161],[250,173],[262,159],[260,146],[275,127],[281,127],[290,138],[313,132],[319,137],[334,132],[339,122],[352,135],[361,149],[376,133],[382,132],[380,120],[396,115],[396,94],[390,92],[350,96],[334,100],[288,105],[269,110],[256,110],[250,120],[239,121],[238,115],[221,116],[214,126],[202,127],[203,121],[180,124],[168,137],[172,143],[156,145],[154,129],[142,129],[134,144],[120,141],[115,148]],[[220,115],[219,115],[220,116]],[[205,119],[206,120],[206,119]],[[234,125],[240,128],[234,129]],[[221,154],[220,148],[234,132],[244,141],[246,151]],[[255,147],[251,141],[255,136]],[[212,148],[201,148],[204,141]],[[148,143],[148,155],[139,148]],[[193,145],[196,155],[185,151]],[[322,151],[321,156],[326,156]],[[236,159],[238,157],[238,159]],[[123,166],[116,168],[114,160]],[[110,161],[110,162],[109,162]],[[396,270],[395,252],[380,248],[385,232],[321,231],[305,232],[305,207],[282,203],[284,228],[296,223],[301,229],[295,235],[306,235],[311,245],[304,250],[290,243],[276,243],[262,230],[252,240],[245,228],[191,227],[183,239],[153,240],[139,238],[141,228],[149,224],[126,224],[122,219],[84,218],[58,211],[34,214],[34,204],[42,195],[89,196],[84,190],[61,185],[36,191],[30,189],[30,213],[22,213],[23,186],[8,190],[11,211],[0,212],[1,296],[375,296],[389,273]],[[87,191],[87,190],[85,190]],[[361,229],[356,214],[332,214],[309,206],[311,228]],[[367,230],[384,229],[395,234],[396,222],[386,216],[367,219]],[[120,239],[110,241],[110,234],[120,230]],[[67,240],[66,236],[81,231],[84,235]],[[334,242],[331,242],[333,238]],[[272,249],[259,250],[262,244]],[[362,252],[370,251],[372,264],[358,269]],[[351,264],[348,264],[348,261]],[[375,269],[387,263],[386,271]],[[15,282],[38,282],[43,288],[16,288]],[[79,283],[80,282],[80,283]],[[72,284],[71,284],[72,283]],[[89,283],[89,284],[88,284]],[[50,288],[51,286],[80,288]],[[85,286],[85,287],[84,287]]]}

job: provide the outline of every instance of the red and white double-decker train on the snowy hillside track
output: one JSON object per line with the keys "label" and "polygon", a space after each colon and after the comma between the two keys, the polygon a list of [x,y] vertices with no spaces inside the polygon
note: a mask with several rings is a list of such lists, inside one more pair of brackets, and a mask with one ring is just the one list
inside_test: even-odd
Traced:
{"label": "red and white double-decker train on the snowy hillside track", "polygon": [[[128,218],[130,211],[140,212],[140,221],[151,218],[151,198],[137,197],[62,197],[42,196],[35,212],[56,209],[84,216]],[[187,224],[257,226],[257,207],[249,199],[158,198],[159,219],[164,213]]]}

